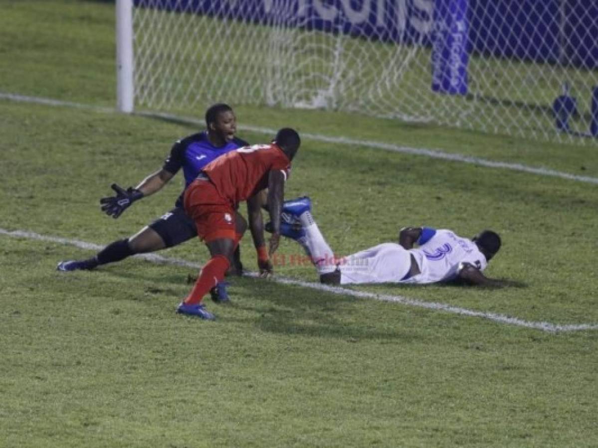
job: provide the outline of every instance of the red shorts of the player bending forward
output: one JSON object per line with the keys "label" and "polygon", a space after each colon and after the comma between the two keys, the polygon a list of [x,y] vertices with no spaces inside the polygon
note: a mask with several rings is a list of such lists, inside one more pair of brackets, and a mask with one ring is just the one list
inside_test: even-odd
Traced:
{"label": "red shorts of the player bending forward", "polygon": [[235,239],[235,211],[209,180],[194,180],[187,187],[184,206],[195,221],[197,236],[206,243],[220,238]]}

